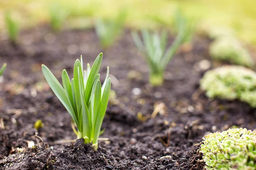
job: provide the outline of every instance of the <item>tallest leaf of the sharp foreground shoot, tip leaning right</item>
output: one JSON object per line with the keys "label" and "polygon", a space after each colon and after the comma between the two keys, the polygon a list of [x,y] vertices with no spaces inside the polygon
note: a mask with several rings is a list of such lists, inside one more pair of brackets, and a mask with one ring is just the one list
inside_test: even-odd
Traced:
{"label": "tallest leaf of the sharp foreground shoot, tip leaning right", "polygon": [[92,92],[92,88],[93,88],[93,82],[94,79],[96,78],[97,74],[99,73],[99,68],[102,62],[102,53],[100,53],[98,55],[98,57],[96,58],[95,62],[93,63],[93,66],[91,68],[88,80],[87,80],[87,84],[86,84],[86,88],[85,88],[85,102],[86,104],[89,103],[90,101],[90,96],[91,96],[91,92]]}

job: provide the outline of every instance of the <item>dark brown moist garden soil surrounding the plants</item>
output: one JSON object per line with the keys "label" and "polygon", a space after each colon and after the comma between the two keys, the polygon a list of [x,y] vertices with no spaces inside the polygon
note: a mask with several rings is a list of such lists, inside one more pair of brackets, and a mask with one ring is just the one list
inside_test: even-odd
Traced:
{"label": "dark brown moist garden soil surrounding the plants", "polygon": [[[221,65],[209,58],[210,40],[205,37],[196,36],[191,50],[180,48],[166,69],[163,86],[154,88],[129,30],[108,49],[100,47],[93,29],[52,33],[46,27],[33,28],[20,34],[17,45],[4,38],[1,170],[202,170],[199,147],[205,134],[230,127],[256,128],[256,112],[247,104],[208,99],[200,90],[204,72]],[[61,80],[63,69],[72,77],[81,54],[84,63],[92,65],[100,52],[101,79],[109,65],[113,91],[101,136],[109,140],[99,141],[95,151],[83,139],[73,140],[71,116],[47,85],[41,65]],[[158,108],[160,113],[152,117]],[[37,130],[38,119],[44,127]]]}

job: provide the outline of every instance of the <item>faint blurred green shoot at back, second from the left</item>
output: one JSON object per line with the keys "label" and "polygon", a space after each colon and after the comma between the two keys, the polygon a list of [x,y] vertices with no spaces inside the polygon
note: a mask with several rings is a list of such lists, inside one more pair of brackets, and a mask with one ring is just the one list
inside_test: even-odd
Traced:
{"label": "faint blurred green shoot at back, second from the left", "polygon": [[61,31],[63,23],[68,16],[67,10],[61,8],[58,3],[51,3],[49,6],[50,26],[53,31]]}

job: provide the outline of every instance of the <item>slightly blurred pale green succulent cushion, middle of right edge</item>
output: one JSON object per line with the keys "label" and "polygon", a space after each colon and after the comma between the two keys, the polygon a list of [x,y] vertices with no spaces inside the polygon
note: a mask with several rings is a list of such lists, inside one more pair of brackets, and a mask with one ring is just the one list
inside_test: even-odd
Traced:
{"label": "slightly blurred pale green succulent cushion, middle of right edge", "polygon": [[239,99],[256,108],[256,73],[243,66],[222,66],[207,71],[200,86],[210,98]]}

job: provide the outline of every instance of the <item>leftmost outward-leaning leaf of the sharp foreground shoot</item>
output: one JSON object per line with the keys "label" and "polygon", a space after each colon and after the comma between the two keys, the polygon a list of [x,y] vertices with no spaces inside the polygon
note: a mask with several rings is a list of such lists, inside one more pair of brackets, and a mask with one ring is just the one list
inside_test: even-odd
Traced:
{"label": "leftmost outward-leaning leaf of the sharp foreground shoot", "polygon": [[72,108],[72,105],[67,97],[67,94],[65,93],[64,88],[61,86],[61,84],[58,82],[58,80],[52,74],[52,72],[49,70],[49,68],[47,68],[47,66],[42,65],[42,71],[43,71],[44,77],[47,80],[53,93],[58,97],[58,99],[61,101],[61,103],[67,109],[67,111],[70,113],[70,115],[72,116],[76,125],[79,125],[78,120],[76,119],[76,113]]}

